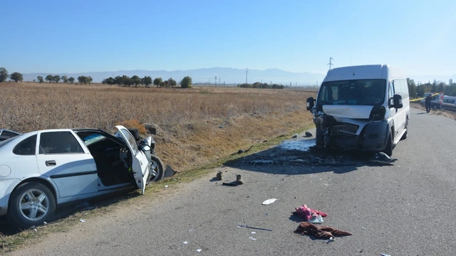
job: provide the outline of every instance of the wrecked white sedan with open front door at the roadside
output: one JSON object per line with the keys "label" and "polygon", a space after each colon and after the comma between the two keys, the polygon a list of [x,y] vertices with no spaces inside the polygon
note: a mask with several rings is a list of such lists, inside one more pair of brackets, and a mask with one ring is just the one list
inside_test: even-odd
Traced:
{"label": "wrecked white sedan with open front door at the roadside", "polygon": [[138,141],[123,126],[48,129],[0,142],[0,216],[21,228],[40,225],[56,206],[163,178],[152,137]]}

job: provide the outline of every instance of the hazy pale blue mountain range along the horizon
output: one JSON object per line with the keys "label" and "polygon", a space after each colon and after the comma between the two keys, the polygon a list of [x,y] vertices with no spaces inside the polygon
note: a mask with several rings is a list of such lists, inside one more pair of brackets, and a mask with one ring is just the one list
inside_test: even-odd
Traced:
{"label": "hazy pale blue mountain range along the horizon", "polygon": [[[246,72],[247,71],[247,72]],[[78,79],[81,75],[86,75],[93,78],[93,82],[101,82],[105,78],[113,77],[120,75],[128,75],[132,77],[133,75],[138,75],[140,78],[144,76],[150,76],[154,78],[162,78],[167,80],[168,78],[173,78],[177,82],[180,82],[185,76],[190,76],[193,83],[205,83],[214,85],[215,77],[217,76],[217,85],[219,84],[239,84],[246,82],[267,82],[267,83],[276,83],[282,85],[320,85],[321,81],[326,74],[321,73],[295,73],[284,70],[279,70],[277,68],[271,68],[266,70],[244,70],[237,68],[199,68],[193,70],[118,70],[118,71],[103,71],[103,72],[86,72],[86,73],[28,73],[23,74],[24,81],[33,81],[36,80],[38,75],[41,75],[43,78],[46,78],[47,75],[67,75],[68,78],[73,77]],[[415,82],[432,82],[433,80],[442,81],[448,83],[450,78],[453,78],[456,82],[456,75],[410,75],[410,78],[415,80]]]}

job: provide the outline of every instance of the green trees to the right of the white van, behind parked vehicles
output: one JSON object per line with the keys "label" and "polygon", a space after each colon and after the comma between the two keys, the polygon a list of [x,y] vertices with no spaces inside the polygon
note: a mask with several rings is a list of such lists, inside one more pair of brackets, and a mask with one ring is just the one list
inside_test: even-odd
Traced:
{"label": "green trees to the right of the white van, behind parked vehicles", "polygon": [[456,82],[452,79],[448,84],[442,81],[434,80],[434,82],[426,82],[417,85],[413,79],[407,78],[408,93],[410,97],[423,97],[425,92],[443,92],[444,95],[456,96]]}

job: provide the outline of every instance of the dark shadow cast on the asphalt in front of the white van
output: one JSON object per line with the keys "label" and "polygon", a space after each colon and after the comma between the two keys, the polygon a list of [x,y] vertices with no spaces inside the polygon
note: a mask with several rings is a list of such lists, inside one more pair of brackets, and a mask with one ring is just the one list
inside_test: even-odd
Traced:
{"label": "dark shadow cast on the asphalt in front of the white van", "polygon": [[[328,149],[322,151],[316,149],[314,145],[315,139],[289,140],[271,149],[227,161],[224,166],[270,174],[301,175],[326,171],[344,174],[349,171],[356,171],[363,166],[384,165],[371,162],[373,153]],[[288,168],[287,166],[299,168]]]}

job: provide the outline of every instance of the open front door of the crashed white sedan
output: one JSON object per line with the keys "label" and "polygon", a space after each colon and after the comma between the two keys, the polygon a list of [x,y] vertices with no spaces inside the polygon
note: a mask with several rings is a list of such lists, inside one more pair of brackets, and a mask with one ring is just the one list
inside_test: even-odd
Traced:
{"label": "open front door of the crashed white sedan", "polygon": [[149,178],[150,163],[147,161],[144,152],[138,149],[138,144],[136,144],[135,138],[128,132],[128,129],[121,125],[117,125],[115,128],[118,129],[115,136],[120,137],[128,144],[128,148],[132,154],[131,170],[133,171],[133,177],[135,178],[136,184],[138,184],[138,188],[140,188],[142,194],[144,194],[147,178]]}

